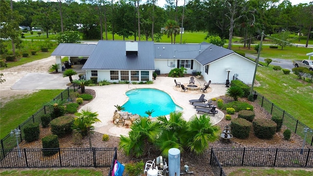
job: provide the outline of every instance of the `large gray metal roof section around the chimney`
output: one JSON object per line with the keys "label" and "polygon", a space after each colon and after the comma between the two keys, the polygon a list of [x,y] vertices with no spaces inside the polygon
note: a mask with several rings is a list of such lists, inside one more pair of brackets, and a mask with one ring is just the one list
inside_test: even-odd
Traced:
{"label": "large gray metal roof section around the chimney", "polygon": [[82,69],[154,70],[154,43],[137,43],[138,56],[126,56],[126,41],[99,41]]}

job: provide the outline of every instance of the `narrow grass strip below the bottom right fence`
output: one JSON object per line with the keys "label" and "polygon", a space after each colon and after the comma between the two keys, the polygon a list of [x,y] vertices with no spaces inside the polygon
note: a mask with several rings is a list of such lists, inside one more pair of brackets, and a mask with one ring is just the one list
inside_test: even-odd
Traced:
{"label": "narrow grass strip below the bottom right fence", "polygon": [[312,176],[312,171],[279,169],[238,169],[227,176]]}

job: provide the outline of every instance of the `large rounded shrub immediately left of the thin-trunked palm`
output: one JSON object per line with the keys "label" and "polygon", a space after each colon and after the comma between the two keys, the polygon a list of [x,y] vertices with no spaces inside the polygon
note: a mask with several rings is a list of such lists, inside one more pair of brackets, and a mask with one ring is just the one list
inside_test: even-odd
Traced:
{"label": "large rounded shrub immediately left of the thin-trunked palm", "polygon": [[72,124],[74,118],[70,116],[61,116],[56,119],[53,119],[50,122],[52,134],[56,134],[59,137],[63,137],[72,132]]}

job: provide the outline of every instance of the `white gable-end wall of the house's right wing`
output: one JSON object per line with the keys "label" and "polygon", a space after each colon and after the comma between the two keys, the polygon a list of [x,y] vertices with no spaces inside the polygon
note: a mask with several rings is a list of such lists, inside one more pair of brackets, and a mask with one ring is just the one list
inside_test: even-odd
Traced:
{"label": "white gable-end wall of the house's right wing", "polygon": [[[205,66],[203,68],[205,69]],[[229,72],[229,81],[233,79],[234,74],[238,74],[238,79],[246,84],[252,84],[255,63],[236,53],[211,63],[208,74],[202,72],[202,75],[206,82],[211,80],[212,84],[225,84],[228,74],[226,71],[227,68],[231,70]]]}

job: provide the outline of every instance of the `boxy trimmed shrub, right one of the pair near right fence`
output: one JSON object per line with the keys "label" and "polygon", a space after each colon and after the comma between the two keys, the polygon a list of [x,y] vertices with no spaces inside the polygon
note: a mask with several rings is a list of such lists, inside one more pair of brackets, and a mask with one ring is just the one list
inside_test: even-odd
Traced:
{"label": "boxy trimmed shrub, right one of the pair near right fence", "polygon": [[276,132],[277,125],[269,119],[255,119],[253,121],[254,135],[261,139],[270,139]]}

